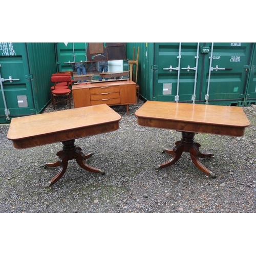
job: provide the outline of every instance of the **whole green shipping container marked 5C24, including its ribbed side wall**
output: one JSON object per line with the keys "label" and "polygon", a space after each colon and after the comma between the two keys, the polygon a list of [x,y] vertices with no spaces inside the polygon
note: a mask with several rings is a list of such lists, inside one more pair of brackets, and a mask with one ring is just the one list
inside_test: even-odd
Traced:
{"label": "whole green shipping container marked 5C24, including its ribbed side wall", "polygon": [[138,80],[146,100],[244,106],[256,102],[254,42],[129,42],[140,47]]}

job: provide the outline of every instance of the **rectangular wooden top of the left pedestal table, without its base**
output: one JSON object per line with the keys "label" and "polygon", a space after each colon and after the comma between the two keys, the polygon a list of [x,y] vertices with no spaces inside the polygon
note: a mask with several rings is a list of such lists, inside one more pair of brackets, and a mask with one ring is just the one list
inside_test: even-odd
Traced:
{"label": "rectangular wooden top of the left pedestal table, without its base", "polygon": [[27,148],[117,130],[121,116],[106,104],[12,118],[7,138]]}

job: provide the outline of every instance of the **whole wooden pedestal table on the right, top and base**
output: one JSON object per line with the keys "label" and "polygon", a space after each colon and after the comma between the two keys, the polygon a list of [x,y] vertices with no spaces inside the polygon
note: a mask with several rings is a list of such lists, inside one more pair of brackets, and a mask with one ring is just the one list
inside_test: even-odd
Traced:
{"label": "whole wooden pedestal table on the right, top and base", "polygon": [[175,143],[173,150],[163,150],[173,156],[159,164],[157,170],[177,162],[182,152],[189,152],[198,169],[212,178],[216,175],[199,158],[212,157],[214,154],[203,154],[199,151],[201,145],[194,142],[195,134],[243,136],[245,128],[250,125],[243,109],[238,106],[146,101],[135,115],[139,125],[173,129],[182,133],[182,139]]}

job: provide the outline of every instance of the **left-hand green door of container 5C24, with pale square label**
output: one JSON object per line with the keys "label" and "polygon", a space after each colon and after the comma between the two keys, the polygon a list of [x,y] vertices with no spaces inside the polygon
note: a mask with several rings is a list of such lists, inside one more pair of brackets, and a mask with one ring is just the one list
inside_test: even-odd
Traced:
{"label": "left-hand green door of container 5C24, with pale square label", "polygon": [[195,101],[199,43],[155,43],[153,99]]}

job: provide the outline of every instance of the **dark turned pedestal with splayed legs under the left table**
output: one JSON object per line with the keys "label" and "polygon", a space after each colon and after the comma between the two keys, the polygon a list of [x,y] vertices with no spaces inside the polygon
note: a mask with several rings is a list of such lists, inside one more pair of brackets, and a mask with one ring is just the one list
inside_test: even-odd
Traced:
{"label": "dark turned pedestal with splayed legs under the left table", "polygon": [[76,159],[76,162],[83,168],[88,170],[89,172],[92,173],[101,173],[105,174],[104,171],[91,167],[86,163],[86,159],[91,157],[93,153],[89,153],[87,155],[84,155],[81,152],[81,148],[77,147],[75,145],[75,140],[67,140],[67,141],[62,141],[63,147],[62,150],[59,151],[56,155],[59,157],[58,161],[54,163],[47,163],[46,166],[48,167],[57,167],[59,166],[58,172],[56,175],[48,182],[46,187],[50,187],[52,184],[57,182],[63,174],[65,174],[67,170],[67,166],[69,163],[69,160]]}

